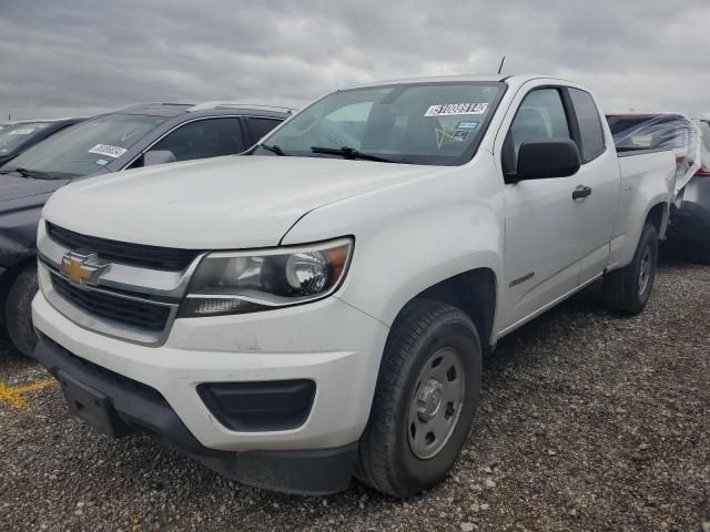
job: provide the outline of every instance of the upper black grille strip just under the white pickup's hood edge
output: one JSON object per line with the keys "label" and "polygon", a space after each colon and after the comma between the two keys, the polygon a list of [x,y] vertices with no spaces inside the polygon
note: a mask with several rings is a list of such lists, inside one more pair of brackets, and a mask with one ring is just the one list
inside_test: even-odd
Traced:
{"label": "upper black grille strip just under the white pickup's hood edge", "polygon": [[150,269],[180,272],[185,269],[197,255],[204,253],[200,249],[175,249],[80,235],[49,222],[47,222],[47,233],[52,241],[69,249],[87,249],[112,263]]}

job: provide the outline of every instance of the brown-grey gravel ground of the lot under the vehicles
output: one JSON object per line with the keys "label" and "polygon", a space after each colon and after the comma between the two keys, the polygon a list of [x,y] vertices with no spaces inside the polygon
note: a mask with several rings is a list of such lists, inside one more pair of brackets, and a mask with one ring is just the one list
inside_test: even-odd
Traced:
{"label": "brown-grey gravel ground of the lot under the vehicles", "polygon": [[[45,379],[0,339],[6,390]],[[9,396],[2,531],[698,531],[710,521],[710,268],[667,262],[641,316],[610,314],[592,287],[503,340],[454,470],[408,501],[356,481],[324,498],[246,488],[148,438],[94,433],[55,386]]]}

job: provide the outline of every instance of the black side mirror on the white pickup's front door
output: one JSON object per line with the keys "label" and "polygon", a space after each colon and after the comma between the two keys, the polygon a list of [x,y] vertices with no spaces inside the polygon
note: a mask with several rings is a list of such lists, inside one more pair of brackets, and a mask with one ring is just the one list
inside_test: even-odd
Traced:
{"label": "black side mirror on the white pickup's front door", "polygon": [[581,166],[579,149],[569,139],[527,141],[518,151],[516,178],[545,180],[575,175]]}

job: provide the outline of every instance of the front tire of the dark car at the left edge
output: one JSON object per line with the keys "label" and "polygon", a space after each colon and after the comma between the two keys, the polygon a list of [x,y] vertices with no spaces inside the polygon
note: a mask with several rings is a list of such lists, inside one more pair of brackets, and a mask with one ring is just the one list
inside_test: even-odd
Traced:
{"label": "front tire of the dark car at the left edge", "polygon": [[32,299],[37,290],[37,266],[28,266],[14,279],[6,299],[8,335],[26,357],[31,357],[37,346],[37,332],[32,326]]}

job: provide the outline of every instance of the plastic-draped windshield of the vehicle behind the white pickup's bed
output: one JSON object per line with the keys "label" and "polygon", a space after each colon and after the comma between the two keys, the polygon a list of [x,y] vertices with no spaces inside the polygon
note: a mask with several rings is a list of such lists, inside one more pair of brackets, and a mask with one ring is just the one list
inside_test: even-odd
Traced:
{"label": "plastic-draped windshield of the vehicle behind the white pickup's bed", "polygon": [[688,150],[692,127],[682,116],[609,115],[609,129],[617,150]]}

